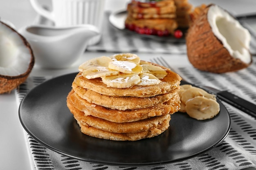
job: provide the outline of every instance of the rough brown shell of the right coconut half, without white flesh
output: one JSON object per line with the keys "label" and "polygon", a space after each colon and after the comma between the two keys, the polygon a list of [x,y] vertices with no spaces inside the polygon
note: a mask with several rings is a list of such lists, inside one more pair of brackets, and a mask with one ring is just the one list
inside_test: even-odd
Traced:
{"label": "rough brown shell of the right coconut half, without white flesh", "polygon": [[222,42],[213,34],[207,19],[208,5],[189,27],[186,34],[186,47],[189,62],[199,70],[212,73],[238,71],[248,67],[239,59],[232,57]]}

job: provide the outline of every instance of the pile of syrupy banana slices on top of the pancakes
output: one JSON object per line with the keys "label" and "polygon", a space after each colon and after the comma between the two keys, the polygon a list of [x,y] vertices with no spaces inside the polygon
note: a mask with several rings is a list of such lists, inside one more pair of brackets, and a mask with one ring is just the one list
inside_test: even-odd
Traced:
{"label": "pile of syrupy banana slices on top of the pancakes", "polygon": [[163,68],[141,61],[132,53],[88,60],[79,66],[79,71],[87,79],[100,77],[104,84],[114,88],[157,85],[167,75]]}

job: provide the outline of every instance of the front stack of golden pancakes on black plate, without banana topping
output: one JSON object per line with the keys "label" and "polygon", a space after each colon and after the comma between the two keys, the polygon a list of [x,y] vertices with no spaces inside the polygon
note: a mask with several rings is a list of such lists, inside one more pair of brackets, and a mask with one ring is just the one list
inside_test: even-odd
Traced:
{"label": "front stack of golden pancakes on black plate, without banana topping", "polygon": [[135,141],[157,136],[169,127],[171,114],[180,109],[180,76],[170,69],[160,84],[108,87],[101,78],[87,79],[79,72],[67,96],[67,106],[92,137]]}

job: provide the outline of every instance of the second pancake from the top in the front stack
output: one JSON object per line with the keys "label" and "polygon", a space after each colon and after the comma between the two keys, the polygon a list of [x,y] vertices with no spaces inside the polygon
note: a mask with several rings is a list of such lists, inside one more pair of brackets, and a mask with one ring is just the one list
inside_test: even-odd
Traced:
{"label": "second pancake from the top in the front stack", "polygon": [[165,93],[153,97],[113,97],[101,95],[97,92],[79,87],[74,83],[72,84],[72,88],[77,95],[90,103],[118,110],[147,108],[155,104],[161,104],[170,100],[173,93],[176,94],[179,90],[179,88],[176,88],[172,93]]}

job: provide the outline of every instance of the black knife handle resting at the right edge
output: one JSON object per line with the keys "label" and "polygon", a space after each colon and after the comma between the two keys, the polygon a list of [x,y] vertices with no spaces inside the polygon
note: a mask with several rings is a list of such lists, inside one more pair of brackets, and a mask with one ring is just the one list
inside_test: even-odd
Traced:
{"label": "black knife handle resting at the right edge", "polygon": [[251,115],[252,117],[256,118],[256,105],[248,102],[245,99],[242,99],[232,93],[229,93],[228,91],[221,91],[217,93],[217,97],[219,99],[223,100],[224,102],[227,102],[231,106],[234,106],[243,112],[247,113],[248,115]]}

